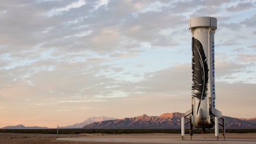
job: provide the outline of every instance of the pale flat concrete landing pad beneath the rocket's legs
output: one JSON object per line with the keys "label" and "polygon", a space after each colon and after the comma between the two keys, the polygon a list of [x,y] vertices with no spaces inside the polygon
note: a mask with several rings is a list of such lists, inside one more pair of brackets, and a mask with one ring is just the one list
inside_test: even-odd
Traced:
{"label": "pale flat concrete landing pad beneath the rocket's legs", "polygon": [[256,143],[256,134],[226,134],[217,141],[214,134],[189,134],[181,140],[180,134],[84,134],[79,138],[57,138],[60,141],[91,141],[97,143]]}

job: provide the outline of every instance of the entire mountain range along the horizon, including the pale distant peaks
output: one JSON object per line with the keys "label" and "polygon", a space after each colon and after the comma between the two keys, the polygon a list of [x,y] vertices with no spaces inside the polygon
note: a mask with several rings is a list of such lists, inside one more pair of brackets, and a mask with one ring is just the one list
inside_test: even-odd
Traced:
{"label": "entire mountain range along the horizon, including the pale distant peaks", "polygon": [[[160,116],[141,115],[133,118],[108,118],[106,116],[87,118],[84,122],[60,129],[180,129],[180,117],[184,113],[164,113]],[[256,129],[255,118],[225,117],[226,129]],[[47,127],[8,126],[2,129],[48,129]]]}

